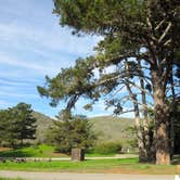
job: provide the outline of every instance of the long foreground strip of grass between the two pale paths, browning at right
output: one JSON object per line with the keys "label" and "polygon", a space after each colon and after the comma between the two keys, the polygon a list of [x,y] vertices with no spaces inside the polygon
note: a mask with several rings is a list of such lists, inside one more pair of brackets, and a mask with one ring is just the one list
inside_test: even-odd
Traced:
{"label": "long foreground strip of grass between the two pale paths, browning at right", "polygon": [[26,171],[69,171],[69,172],[110,172],[110,173],[151,173],[175,175],[180,173],[178,165],[157,166],[139,164],[138,158],[101,159],[75,162],[28,162],[28,163],[1,163],[0,170]]}

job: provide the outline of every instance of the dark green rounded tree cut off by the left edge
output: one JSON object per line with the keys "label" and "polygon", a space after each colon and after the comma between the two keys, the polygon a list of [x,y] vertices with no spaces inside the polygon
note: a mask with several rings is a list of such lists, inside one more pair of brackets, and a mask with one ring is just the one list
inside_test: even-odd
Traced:
{"label": "dark green rounded tree cut off by the left edge", "polygon": [[14,107],[0,111],[1,144],[16,147],[24,140],[35,139],[36,119],[29,104],[18,103]]}

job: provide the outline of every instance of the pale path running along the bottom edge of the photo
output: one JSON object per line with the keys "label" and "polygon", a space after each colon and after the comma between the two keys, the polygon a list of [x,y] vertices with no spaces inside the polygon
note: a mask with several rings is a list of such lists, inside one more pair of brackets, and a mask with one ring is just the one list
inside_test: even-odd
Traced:
{"label": "pale path running along the bottom edge of the photo", "polygon": [[26,180],[175,180],[175,176],[0,171],[0,177]]}

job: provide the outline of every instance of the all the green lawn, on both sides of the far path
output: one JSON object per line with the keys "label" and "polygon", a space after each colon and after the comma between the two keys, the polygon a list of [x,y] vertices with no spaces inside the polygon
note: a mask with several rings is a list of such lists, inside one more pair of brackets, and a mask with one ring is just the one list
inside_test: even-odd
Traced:
{"label": "all the green lawn, on both sides of the far path", "polygon": [[[88,157],[114,156],[115,154],[87,154]],[[0,151],[0,157],[65,157],[54,153],[53,146],[39,145],[20,150]],[[170,166],[157,166],[140,164],[138,158],[95,159],[75,162],[27,162],[27,163],[0,163],[0,170],[26,170],[26,171],[72,171],[72,172],[111,172],[111,173],[151,173],[175,175],[180,173],[180,156],[176,156]],[[0,180],[3,180],[2,178]]]}

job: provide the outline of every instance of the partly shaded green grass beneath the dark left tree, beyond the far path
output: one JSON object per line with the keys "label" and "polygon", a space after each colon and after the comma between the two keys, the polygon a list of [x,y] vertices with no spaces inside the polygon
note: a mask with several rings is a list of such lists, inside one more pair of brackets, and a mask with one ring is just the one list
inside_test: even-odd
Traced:
{"label": "partly shaded green grass beneath the dark left tree, beyond the far path", "polygon": [[[17,150],[0,152],[1,157],[59,157],[62,154],[54,153],[55,147],[41,144],[39,146],[29,146]],[[65,156],[65,155],[64,155]]]}

